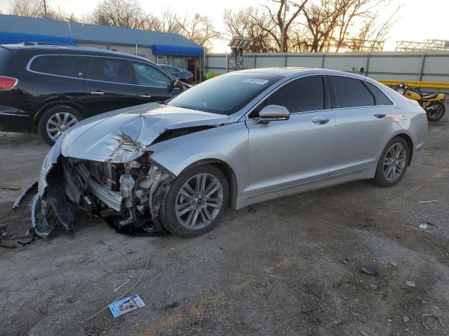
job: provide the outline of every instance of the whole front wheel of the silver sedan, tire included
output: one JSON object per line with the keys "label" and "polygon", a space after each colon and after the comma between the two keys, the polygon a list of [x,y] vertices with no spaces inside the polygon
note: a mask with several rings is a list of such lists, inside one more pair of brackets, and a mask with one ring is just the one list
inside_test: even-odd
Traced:
{"label": "whole front wheel of the silver sedan, tire included", "polygon": [[188,169],[163,196],[159,220],[180,237],[198,237],[220,223],[229,202],[225,174],[212,165]]}

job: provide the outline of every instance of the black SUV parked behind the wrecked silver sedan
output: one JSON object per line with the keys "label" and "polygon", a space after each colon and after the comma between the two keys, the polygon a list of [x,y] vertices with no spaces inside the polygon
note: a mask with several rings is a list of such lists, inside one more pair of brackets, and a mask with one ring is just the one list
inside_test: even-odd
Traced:
{"label": "black SUV parked behind the wrecked silver sedan", "polygon": [[163,101],[185,88],[148,59],[124,52],[0,45],[0,131],[38,132],[48,144],[79,120]]}

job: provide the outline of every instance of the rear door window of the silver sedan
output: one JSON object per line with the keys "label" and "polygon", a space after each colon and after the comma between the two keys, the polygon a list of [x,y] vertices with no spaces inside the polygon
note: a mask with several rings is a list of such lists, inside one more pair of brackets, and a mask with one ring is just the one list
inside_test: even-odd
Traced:
{"label": "rear door window of the silver sedan", "polygon": [[374,106],[374,96],[356,78],[332,76],[337,108]]}

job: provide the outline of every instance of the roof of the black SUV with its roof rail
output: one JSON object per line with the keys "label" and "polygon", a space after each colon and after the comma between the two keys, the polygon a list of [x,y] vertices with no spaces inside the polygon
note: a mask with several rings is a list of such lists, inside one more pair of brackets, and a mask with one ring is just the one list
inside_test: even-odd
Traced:
{"label": "roof of the black SUV with its roof rail", "polygon": [[140,61],[150,62],[149,59],[138,55],[129,54],[128,52],[120,52],[107,49],[82,47],[78,45],[61,45],[61,44],[39,44],[34,42],[25,42],[18,44],[4,44],[1,45],[4,48],[10,50],[28,50],[30,52],[42,52],[51,53],[58,52],[58,54],[80,54],[80,55],[96,55],[96,56],[112,56],[112,57],[124,57],[128,59],[136,59]]}

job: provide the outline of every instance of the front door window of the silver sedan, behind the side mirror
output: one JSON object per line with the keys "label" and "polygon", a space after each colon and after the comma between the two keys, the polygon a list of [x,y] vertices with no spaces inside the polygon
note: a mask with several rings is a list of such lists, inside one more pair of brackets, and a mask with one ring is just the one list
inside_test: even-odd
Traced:
{"label": "front door window of the silver sedan, behind the side mirror", "polygon": [[283,85],[268,97],[267,105],[285,106],[290,113],[323,110],[323,76],[304,77]]}

